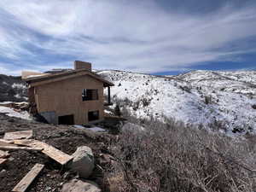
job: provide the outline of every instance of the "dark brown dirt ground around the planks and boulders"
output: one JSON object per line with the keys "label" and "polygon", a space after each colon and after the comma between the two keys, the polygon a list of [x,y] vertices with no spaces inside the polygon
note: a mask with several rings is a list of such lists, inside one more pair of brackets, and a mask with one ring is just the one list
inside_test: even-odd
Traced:
{"label": "dark brown dirt ground around the planks and boulders", "polygon": [[[92,148],[98,166],[88,179],[98,183],[102,191],[108,191],[103,182],[108,167],[106,164],[102,164],[100,154],[110,154],[109,146],[115,141],[116,136],[67,125],[48,125],[26,119],[17,119],[0,113],[0,138],[3,138],[4,132],[7,131],[26,130],[33,130],[34,139],[48,143],[67,154],[73,154],[76,148],[83,145]],[[63,183],[73,177],[78,177],[75,173],[68,171],[67,167],[60,166],[40,152],[17,150],[10,152],[10,154],[9,160],[0,167],[1,192],[11,191],[36,163],[42,163],[45,167],[32,183],[32,186],[27,189],[27,192],[58,192],[61,191]]]}

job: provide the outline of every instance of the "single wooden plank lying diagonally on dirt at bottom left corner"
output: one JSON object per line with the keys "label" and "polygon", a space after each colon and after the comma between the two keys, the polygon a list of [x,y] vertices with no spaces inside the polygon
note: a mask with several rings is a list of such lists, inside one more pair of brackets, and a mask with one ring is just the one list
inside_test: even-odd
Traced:
{"label": "single wooden plank lying diagonally on dirt at bottom left corner", "polygon": [[12,191],[25,192],[29,185],[33,182],[33,180],[38,176],[38,174],[43,169],[44,165],[37,163],[35,166],[32,167],[32,170],[28,172],[26,176],[20,180],[20,183],[18,183]]}

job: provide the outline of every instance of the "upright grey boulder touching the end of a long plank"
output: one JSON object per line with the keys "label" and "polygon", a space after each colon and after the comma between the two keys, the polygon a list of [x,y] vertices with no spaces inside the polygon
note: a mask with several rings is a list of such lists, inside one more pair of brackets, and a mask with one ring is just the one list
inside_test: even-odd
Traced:
{"label": "upright grey boulder touching the end of a long plank", "polygon": [[91,148],[81,146],[72,154],[73,162],[71,169],[79,173],[79,177],[87,178],[94,169],[94,155]]}

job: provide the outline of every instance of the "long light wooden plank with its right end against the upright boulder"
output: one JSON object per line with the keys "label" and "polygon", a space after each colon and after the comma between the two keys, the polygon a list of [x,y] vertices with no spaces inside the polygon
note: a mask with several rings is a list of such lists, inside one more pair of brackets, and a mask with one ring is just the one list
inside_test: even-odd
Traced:
{"label": "long light wooden plank with its right end against the upright boulder", "polygon": [[67,164],[70,160],[73,160],[73,156],[65,154],[61,150],[37,140],[14,140],[14,143],[18,145],[26,145],[31,148],[44,148],[42,153],[48,155],[51,159],[57,161],[62,166]]}

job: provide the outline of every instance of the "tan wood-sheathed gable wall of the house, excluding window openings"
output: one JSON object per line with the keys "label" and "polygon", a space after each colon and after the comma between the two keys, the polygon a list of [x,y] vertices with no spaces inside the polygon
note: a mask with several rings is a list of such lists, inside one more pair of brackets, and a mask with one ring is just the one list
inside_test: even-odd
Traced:
{"label": "tan wood-sheathed gable wall of the house, excluding window openings", "polygon": [[[97,89],[99,99],[83,102],[83,89]],[[99,119],[104,118],[103,84],[88,75],[36,86],[35,98],[38,113],[55,112],[56,118],[73,114],[77,125],[88,123],[89,111],[98,110]]]}

